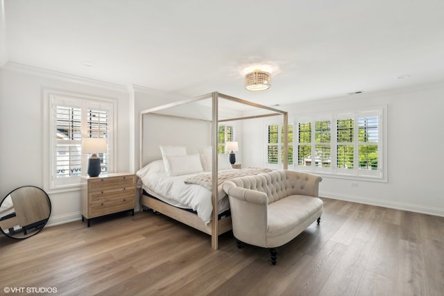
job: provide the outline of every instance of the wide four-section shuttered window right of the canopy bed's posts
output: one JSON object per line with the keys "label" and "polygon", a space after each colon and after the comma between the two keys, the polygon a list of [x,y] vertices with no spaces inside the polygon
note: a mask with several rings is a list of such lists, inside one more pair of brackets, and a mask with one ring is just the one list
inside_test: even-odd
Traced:
{"label": "wide four-section shuttered window right of the canopy bed's posts", "polygon": [[379,109],[300,119],[296,168],[382,178],[382,114]]}

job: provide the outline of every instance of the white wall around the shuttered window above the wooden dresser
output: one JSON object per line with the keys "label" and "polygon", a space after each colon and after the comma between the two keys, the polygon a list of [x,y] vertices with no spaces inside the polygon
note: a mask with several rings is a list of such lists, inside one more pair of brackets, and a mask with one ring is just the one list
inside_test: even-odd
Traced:
{"label": "white wall around the shuttered window above the wooden dresser", "polygon": [[[99,96],[117,101],[115,171],[129,171],[128,89],[14,64],[0,69],[0,199],[19,186],[44,189],[43,89]],[[132,148],[131,148],[132,149]],[[48,225],[80,219],[80,191],[49,193]]]}

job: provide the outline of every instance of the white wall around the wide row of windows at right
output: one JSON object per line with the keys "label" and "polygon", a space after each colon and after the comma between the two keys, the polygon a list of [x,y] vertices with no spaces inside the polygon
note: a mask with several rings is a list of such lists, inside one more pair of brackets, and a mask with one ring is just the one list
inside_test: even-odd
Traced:
{"label": "white wall around the wide row of windows at right", "polygon": [[[386,105],[387,182],[356,181],[323,175],[325,197],[444,216],[441,184],[444,147],[444,85],[280,106],[289,117]],[[265,164],[265,119],[244,123],[244,164]],[[250,153],[251,152],[251,153]]]}

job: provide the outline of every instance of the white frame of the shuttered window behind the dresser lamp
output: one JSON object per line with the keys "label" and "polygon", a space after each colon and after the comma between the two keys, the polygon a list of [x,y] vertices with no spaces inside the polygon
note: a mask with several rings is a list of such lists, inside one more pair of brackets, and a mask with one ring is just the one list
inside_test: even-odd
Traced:
{"label": "white frame of the shuttered window behind the dresser lamp", "polygon": [[[87,137],[87,112],[86,110],[101,110],[108,112],[108,173],[114,171],[114,163],[117,163],[115,154],[117,139],[117,101],[99,96],[63,92],[54,89],[44,89],[44,190],[48,193],[65,191],[77,191],[80,189],[80,176],[64,178],[56,177],[56,117],[54,112],[57,105],[80,107],[82,109],[81,137]],[[80,142],[81,143],[81,142]],[[87,174],[87,157],[81,154],[81,175]],[[61,180],[65,179],[65,180]]]}

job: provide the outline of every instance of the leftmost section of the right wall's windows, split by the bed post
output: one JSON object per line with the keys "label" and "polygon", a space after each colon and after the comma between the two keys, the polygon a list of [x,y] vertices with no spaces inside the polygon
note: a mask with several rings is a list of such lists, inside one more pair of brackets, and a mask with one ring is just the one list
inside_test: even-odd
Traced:
{"label": "leftmost section of the right wall's windows, split by the bed post", "polygon": [[[267,149],[266,164],[268,166],[280,165],[284,162],[284,125],[280,123],[268,123],[267,128]],[[293,164],[293,124],[287,127],[288,141],[288,164]]]}

